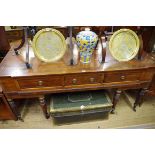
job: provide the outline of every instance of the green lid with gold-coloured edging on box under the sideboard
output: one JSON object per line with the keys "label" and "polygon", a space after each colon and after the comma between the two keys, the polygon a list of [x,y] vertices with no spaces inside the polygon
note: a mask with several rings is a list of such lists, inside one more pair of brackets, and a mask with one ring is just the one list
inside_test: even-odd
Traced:
{"label": "green lid with gold-coloured edging on box under the sideboard", "polygon": [[109,112],[111,109],[112,103],[103,90],[54,94],[50,100],[50,113],[55,117]]}

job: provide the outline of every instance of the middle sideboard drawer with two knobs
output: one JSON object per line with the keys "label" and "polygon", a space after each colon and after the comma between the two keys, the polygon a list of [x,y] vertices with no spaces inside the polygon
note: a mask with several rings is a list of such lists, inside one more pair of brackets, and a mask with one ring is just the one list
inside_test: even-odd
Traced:
{"label": "middle sideboard drawer with two knobs", "polygon": [[65,85],[84,85],[84,84],[99,84],[104,79],[103,74],[80,74],[80,75],[66,75]]}

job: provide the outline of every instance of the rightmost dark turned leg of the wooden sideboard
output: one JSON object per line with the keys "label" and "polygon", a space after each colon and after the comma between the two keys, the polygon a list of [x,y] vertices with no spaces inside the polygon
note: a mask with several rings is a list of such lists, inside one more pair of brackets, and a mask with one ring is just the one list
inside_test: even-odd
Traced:
{"label": "rightmost dark turned leg of the wooden sideboard", "polygon": [[136,107],[137,105],[141,106],[143,103],[143,99],[144,99],[144,95],[146,94],[146,92],[148,91],[148,88],[141,88],[136,96],[136,100],[133,106],[133,110],[136,111]]}

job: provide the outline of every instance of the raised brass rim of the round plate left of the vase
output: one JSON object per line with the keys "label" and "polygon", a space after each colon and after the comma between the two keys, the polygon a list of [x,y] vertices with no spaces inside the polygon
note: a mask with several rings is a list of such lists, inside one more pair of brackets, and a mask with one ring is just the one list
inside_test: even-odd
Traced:
{"label": "raised brass rim of the round plate left of the vase", "polygon": [[[49,32],[49,31],[55,32],[56,34],[58,34],[58,36],[60,36],[60,38],[62,40],[63,47],[64,47],[64,50],[62,50],[61,53],[57,57],[55,57],[53,59],[50,59],[50,60],[49,59],[45,59],[41,54],[39,54],[39,52],[37,51],[37,48],[36,48],[36,42],[37,42],[37,39],[39,38],[39,36],[42,33]],[[35,34],[35,36],[33,38],[33,41],[32,41],[32,48],[33,48],[34,54],[36,55],[36,57],[39,60],[41,60],[43,62],[55,62],[55,61],[60,60],[64,56],[64,54],[66,52],[66,41],[65,41],[65,38],[64,38],[63,34],[60,31],[58,31],[56,29],[53,29],[53,28],[44,28],[44,29],[39,30]]]}

